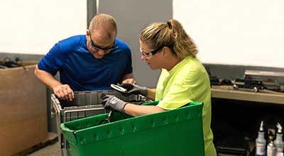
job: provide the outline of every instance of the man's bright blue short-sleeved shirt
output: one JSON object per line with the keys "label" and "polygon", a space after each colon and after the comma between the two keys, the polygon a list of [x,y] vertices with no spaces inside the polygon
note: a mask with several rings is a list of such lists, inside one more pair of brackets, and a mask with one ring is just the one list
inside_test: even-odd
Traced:
{"label": "man's bright blue short-sleeved shirt", "polygon": [[55,75],[73,91],[109,89],[132,72],[131,50],[116,38],[115,48],[102,59],[96,59],[87,49],[85,35],[75,35],[56,43],[38,63],[38,68]]}

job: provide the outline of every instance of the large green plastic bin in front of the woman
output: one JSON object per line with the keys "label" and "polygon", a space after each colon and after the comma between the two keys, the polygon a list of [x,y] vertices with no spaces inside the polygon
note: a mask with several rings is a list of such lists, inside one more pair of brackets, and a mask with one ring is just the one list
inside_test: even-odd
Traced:
{"label": "large green plastic bin in front of the woman", "polygon": [[[156,105],[158,101],[146,105]],[[204,155],[202,103],[172,111],[130,117],[114,113],[62,123],[70,155],[180,156]]]}

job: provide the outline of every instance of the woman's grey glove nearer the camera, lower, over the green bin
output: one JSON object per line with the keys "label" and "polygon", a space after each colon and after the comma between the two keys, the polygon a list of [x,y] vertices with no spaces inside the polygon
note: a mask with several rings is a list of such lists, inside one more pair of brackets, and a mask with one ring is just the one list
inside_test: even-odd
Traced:
{"label": "woman's grey glove nearer the camera, lower, over the green bin", "polygon": [[102,94],[101,98],[104,108],[124,113],[124,106],[127,104],[125,101],[116,96],[106,94]]}

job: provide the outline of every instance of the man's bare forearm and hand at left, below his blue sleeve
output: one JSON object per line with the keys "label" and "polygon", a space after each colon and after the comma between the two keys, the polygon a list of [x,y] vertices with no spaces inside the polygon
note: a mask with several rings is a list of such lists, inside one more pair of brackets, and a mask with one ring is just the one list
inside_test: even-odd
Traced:
{"label": "man's bare forearm and hand at left, below his blue sleeve", "polygon": [[61,84],[52,74],[45,70],[39,69],[38,65],[35,66],[35,75],[38,79],[48,86],[60,99],[72,101],[75,96],[74,92],[68,84]]}

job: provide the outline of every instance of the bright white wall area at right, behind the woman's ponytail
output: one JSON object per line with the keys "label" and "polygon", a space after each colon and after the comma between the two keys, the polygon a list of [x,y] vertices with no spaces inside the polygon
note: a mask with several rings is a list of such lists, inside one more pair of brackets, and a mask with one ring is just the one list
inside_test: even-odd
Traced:
{"label": "bright white wall area at right, behind the woman's ponytail", "polygon": [[173,0],[204,63],[284,67],[283,0]]}

